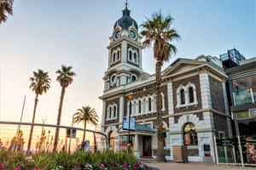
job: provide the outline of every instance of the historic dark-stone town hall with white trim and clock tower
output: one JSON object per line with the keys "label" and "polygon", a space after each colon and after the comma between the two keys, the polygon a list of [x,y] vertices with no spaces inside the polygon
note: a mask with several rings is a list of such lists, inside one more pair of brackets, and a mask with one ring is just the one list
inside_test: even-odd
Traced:
{"label": "historic dark-stone town hall with white trim and clock tower", "polygon": [[[143,71],[143,44],[136,20],[125,8],[113,26],[105,71],[102,132],[113,150],[124,150],[128,132],[123,119],[131,113],[135,156],[156,156],[155,75]],[[172,146],[186,145],[189,161],[215,161],[214,138],[231,138],[226,95],[227,76],[217,57],[177,59],[162,71],[162,111],[165,156],[172,160]],[[132,99],[129,99],[132,96]],[[130,102],[131,101],[131,102]],[[131,104],[131,105],[130,105]]]}

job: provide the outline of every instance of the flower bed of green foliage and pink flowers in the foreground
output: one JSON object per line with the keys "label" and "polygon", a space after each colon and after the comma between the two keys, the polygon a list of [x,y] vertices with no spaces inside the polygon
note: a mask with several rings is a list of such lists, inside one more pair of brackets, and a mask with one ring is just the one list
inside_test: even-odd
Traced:
{"label": "flower bed of green foliage and pink flowers in the foreground", "polygon": [[0,170],[147,170],[143,162],[127,151],[42,152],[27,156],[23,152],[0,151]]}

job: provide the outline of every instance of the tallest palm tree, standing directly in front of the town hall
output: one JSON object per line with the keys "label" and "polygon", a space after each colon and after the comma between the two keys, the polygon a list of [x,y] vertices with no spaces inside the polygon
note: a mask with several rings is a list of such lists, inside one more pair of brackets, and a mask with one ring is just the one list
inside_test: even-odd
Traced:
{"label": "tallest palm tree, standing directly in front of the town hall", "polygon": [[154,44],[155,64],[155,88],[156,88],[156,111],[157,111],[157,161],[165,161],[164,156],[164,136],[162,129],[162,111],[161,111],[161,67],[164,61],[168,61],[172,54],[177,53],[177,48],[171,43],[178,40],[180,36],[177,31],[171,28],[173,18],[167,15],[166,18],[161,13],[152,15],[152,19],[147,19],[143,25],[141,35],[144,37],[143,47],[148,48]]}

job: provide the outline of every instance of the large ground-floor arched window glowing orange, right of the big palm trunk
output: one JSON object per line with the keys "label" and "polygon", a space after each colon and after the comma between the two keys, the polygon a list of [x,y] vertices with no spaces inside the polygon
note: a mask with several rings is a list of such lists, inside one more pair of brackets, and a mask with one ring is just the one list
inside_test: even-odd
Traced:
{"label": "large ground-floor arched window glowing orange, right of the big palm trunk", "polygon": [[184,126],[184,144],[185,145],[197,145],[197,133],[195,131],[194,123],[187,123]]}

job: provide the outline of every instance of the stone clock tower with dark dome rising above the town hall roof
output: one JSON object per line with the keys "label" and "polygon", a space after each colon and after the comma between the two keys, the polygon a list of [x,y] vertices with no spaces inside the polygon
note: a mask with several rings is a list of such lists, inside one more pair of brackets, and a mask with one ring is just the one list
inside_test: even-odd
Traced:
{"label": "stone clock tower with dark dome rising above the town hall roof", "polygon": [[125,6],[123,16],[113,26],[113,33],[108,45],[108,70],[103,80],[104,89],[117,88],[141,78],[142,48],[136,20],[130,16]]}

